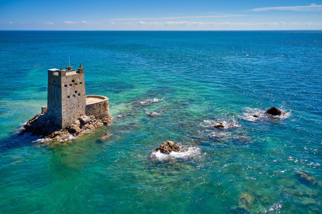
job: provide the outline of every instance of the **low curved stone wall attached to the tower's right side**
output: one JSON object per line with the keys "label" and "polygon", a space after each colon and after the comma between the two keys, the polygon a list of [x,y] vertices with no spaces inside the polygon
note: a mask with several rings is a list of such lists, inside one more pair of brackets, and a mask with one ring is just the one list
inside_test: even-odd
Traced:
{"label": "low curved stone wall attached to the tower's right side", "polygon": [[98,102],[87,104],[85,114],[87,116],[94,115],[96,119],[109,118],[109,98],[100,95],[87,95],[86,98],[98,98]]}

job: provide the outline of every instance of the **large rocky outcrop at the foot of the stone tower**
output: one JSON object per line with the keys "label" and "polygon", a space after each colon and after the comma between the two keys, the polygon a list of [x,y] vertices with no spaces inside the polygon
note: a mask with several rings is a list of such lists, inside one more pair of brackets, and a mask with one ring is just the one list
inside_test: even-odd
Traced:
{"label": "large rocky outcrop at the foot of the stone tower", "polygon": [[[52,124],[46,114],[37,114],[32,119],[28,120],[20,134],[24,132],[31,132],[33,135],[41,135],[46,140],[66,140],[71,136],[78,137],[83,135],[84,132],[96,129],[103,124],[110,124],[112,119],[103,118],[96,119],[95,116],[81,116],[75,120],[71,125],[64,129],[58,129]],[[19,135],[20,135],[19,134]]]}

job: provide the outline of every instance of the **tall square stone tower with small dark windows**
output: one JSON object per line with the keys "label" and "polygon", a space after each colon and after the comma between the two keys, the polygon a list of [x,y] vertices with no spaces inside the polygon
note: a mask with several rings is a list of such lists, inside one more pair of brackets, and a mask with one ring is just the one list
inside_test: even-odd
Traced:
{"label": "tall square stone tower with small dark windows", "polygon": [[47,112],[53,124],[62,129],[85,115],[84,68],[48,70]]}

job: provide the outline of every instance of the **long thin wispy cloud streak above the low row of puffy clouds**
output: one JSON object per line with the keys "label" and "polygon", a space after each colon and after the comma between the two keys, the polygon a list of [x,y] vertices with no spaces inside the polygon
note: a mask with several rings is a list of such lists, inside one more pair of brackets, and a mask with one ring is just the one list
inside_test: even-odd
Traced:
{"label": "long thin wispy cloud streak above the low row of puffy clouds", "polygon": [[117,18],[107,19],[108,21],[125,21],[125,20],[162,20],[162,19],[190,19],[190,18],[221,18],[221,17],[237,17],[237,16],[251,16],[244,14],[217,14],[211,16],[173,16],[173,17],[150,17],[150,18]]}

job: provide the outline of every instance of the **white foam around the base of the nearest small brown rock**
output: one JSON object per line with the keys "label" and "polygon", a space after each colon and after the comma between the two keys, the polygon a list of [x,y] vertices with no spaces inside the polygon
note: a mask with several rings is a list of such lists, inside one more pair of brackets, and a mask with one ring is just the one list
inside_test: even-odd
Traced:
{"label": "white foam around the base of the nearest small brown rock", "polygon": [[163,154],[160,151],[153,151],[150,154],[151,158],[156,158],[159,161],[166,161],[166,160],[175,160],[178,158],[188,159],[193,158],[200,154],[200,148],[198,147],[187,147],[188,151],[186,152],[174,152],[172,151],[170,154]]}

